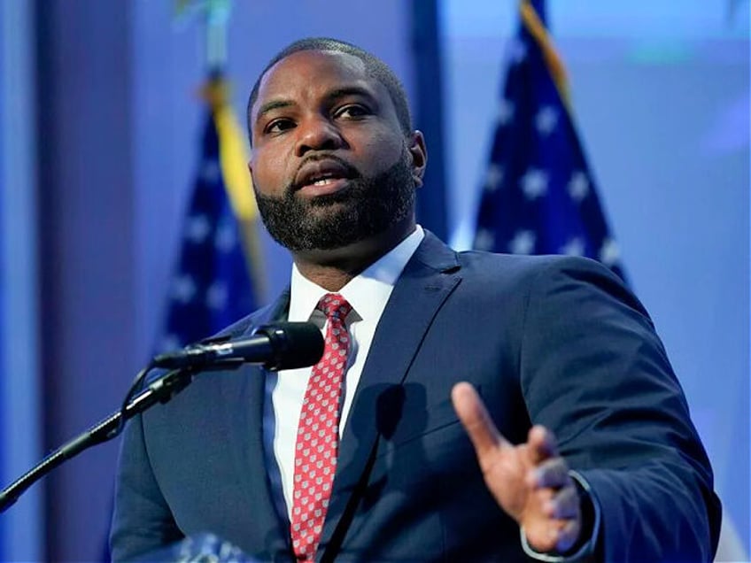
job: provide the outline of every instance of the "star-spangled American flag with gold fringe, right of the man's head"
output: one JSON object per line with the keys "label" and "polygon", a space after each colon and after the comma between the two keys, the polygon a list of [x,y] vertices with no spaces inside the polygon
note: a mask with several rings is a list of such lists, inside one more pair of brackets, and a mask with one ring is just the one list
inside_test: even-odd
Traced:
{"label": "star-spangled American flag with gold fringe, right of the man's head", "polygon": [[501,92],[475,248],[600,260],[621,278],[610,234],[545,25],[544,0],[522,0]]}

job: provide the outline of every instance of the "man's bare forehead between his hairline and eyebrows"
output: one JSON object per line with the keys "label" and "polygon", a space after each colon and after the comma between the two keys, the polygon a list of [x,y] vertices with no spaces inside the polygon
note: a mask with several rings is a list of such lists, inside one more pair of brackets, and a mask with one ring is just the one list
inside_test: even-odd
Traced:
{"label": "man's bare forehead between his hairline and eyebrows", "polygon": [[347,86],[367,89],[380,99],[388,97],[386,88],[368,75],[360,58],[333,50],[298,51],[277,62],[263,75],[252,112],[255,115],[259,106],[270,100],[294,102]]}

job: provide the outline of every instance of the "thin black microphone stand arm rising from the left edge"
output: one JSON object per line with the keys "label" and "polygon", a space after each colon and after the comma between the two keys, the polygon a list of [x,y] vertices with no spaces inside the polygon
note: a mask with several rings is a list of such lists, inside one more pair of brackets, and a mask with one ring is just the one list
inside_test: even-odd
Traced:
{"label": "thin black microphone stand arm rising from the left edge", "polygon": [[[125,425],[125,421],[133,418],[138,413],[149,409],[157,403],[166,403],[172,397],[177,395],[182,389],[185,389],[193,381],[198,372],[205,371],[226,371],[236,369],[243,365],[243,359],[227,359],[221,362],[215,362],[203,366],[190,366],[181,369],[174,369],[166,374],[160,375],[149,383],[146,389],[130,399],[127,405],[124,405],[119,411],[110,414],[104,420],[100,420],[96,425],[74,437],[73,440],[64,443],[57,450],[52,451],[42,461],[32,467],[26,474],[23,474],[16,481],[12,482],[4,490],[0,491],[0,513],[4,513],[18,498],[35,482],[54,468],[60,466],[67,459],[72,459],[81,451],[89,449],[98,443],[105,443],[118,436]],[[139,381],[143,376],[152,369],[146,367],[136,377]]]}

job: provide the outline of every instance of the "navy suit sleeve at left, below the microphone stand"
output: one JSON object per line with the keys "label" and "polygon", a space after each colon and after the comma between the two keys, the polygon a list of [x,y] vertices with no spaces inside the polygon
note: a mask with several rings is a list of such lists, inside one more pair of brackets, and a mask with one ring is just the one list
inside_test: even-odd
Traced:
{"label": "navy suit sleeve at left, below the microphone stand", "polygon": [[140,559],[182,539],[151,472],[141,415],[128,422],[118,466],[110,531],[112,560]]}

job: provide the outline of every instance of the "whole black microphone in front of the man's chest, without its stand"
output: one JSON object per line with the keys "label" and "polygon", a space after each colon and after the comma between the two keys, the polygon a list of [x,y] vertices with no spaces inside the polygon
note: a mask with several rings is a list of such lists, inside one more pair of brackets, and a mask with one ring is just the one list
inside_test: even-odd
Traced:
{"label": "whole black microphone in front of the man's chest, without its stand", "polygon": [[159,354],[151,360],[151,367],[206,367],[235,360],[277,371],[313,366],[322,355],[323,336],[312,322],[279,322],[264,325],[247,338],[194,344]]}

